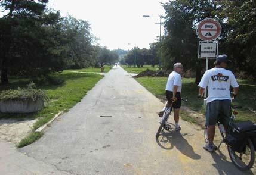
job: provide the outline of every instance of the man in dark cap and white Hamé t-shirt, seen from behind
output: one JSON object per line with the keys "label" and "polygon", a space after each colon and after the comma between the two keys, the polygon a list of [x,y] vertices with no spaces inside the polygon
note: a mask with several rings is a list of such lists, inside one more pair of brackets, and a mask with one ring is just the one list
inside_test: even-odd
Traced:
{"label": "man in dark cap and white Ham\u00e9 t-shirt, seen from behind", "polygon": [[208,87],[209,96],[206,99],[206,125],[208,126],[208,143],[203,148],[209,152],[214,152],[213,144],[215,135],[215,124],[220,121],[224,127],[227,127],[230,121],[231,97],[230,86],[233,87],[233,95],[236,96],[239,91],[239,85],[234,74],[226,70],[227,55],[219,55],[214,62],[215,67],[207,70],[199,83],[199,95],[203,96],[205,88]]}

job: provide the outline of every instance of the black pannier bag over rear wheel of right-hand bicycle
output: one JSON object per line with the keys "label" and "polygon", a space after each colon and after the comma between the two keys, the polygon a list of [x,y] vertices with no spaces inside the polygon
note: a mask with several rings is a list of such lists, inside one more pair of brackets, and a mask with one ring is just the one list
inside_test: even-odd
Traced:
{"label": "black pannier bag over rear wheel of right-hand bicycle", "polygon": [[230,125],[226,141],[233,151],[243,152],[248,143],[248,137],[251,138],[252,143],[254,144],[254,149],[256,150],[256,124],[249,120],[240,121]]}

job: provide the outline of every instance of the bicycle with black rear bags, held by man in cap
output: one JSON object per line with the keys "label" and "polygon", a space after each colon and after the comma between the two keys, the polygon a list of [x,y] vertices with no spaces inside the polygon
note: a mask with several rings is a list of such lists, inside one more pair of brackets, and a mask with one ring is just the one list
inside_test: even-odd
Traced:
{"label": "bicycle with black rear bags, held by man in cap", "polygon": [[[252,137],[248,137],[246,141],[246,144],[242,147],[242,151],[234,151],[232,148],[232,145],[230,145],[229,140],[227,140],[227,136],[230,132],[238,132],[239,130],[236,129],[236,124],[234,123],[234,119],[236,118],[236,114],[238,112],[235,111],[235,109],[242,108],[242,106],[236,106],[236,105],[230,105],[232,109],[232,115],[230,117],[229,126],[227,127],[227,132],[223,132],[220,127],[220,122],[218,121],[218,129],[220,130],[222,140],[220,144],[215,148],[215,150],[219,150],[222,143],[225,143],[227,145],[227,151],[229,152],[230,160],[235,164],[235,166],[242,171],[249,170],[254,165],[255,161],[255,153],[254,153],[254,144],[252,143]],[[207,136],[207,129],[208,126],[205,125],[205,131],[204,131],[204,137],[205,137],[205,143],[208,143],[208,136]],[[252,130],[256,128],[251,128]],[[225,135],[226,133],[226,135]],[[255,131],[256,133],[256,131]],[[245,133],[246,134],[246,133]],[[237,143],[236,143],[237,144]]]}

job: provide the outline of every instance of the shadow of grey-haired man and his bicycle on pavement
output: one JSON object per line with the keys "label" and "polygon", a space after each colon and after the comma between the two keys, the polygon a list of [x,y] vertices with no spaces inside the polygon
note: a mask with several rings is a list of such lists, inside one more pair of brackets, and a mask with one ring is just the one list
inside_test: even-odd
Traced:
{"label": "shadow of grey-haired man and his bicycle on pavement", "polygon": [[175,132],[173,130],[174,127],[168,132],[161,132],[162,135],[156,137],[156,142],[161,148],[164,149],[172,149],[174,146],[184,155],[190,157],[194,160],[198,160],[201,158],[200,155],[194,152],[194,149],[187,142],[187,140],[183,136],[192,136],[188,133],[181,134],[180,132]]}

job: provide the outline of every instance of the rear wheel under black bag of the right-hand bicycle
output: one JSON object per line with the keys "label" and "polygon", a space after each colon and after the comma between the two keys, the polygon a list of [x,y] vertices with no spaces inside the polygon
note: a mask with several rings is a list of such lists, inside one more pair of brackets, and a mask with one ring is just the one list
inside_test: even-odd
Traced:
{"label": "rear wheel under black bag of the right-hand bicycle", "polygon": [[227,146],[227,151],[229,151],[229,157],[233,164],[241,170],[246,171],[249,170],[252,165],[254,165],[254,145],[252,144],[252,140],[248,139],[248,143],[246,143],[245,151],[243,152],[236,152],[233,151],[230,146]]}

